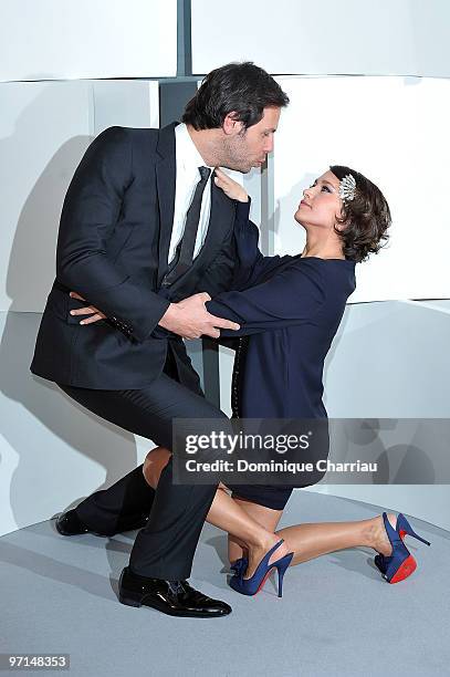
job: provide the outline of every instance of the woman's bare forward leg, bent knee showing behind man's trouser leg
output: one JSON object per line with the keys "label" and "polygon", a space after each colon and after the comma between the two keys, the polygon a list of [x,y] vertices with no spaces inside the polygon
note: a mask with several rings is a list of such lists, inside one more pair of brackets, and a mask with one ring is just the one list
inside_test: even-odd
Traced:
{"label": "woman's bare forward leg, bent knee showing behind man's trouser leg", "polygon": [[[159,476],[170,458],[170,451],[164,447],[153,449],[144,461],[143,472],[147,482],[154,489],[158,485]],[[251,576],[264,554],[280,540],[274,530],[268,530],[254,520],[241,506],[234,501],[226,491],[223,485],[219,486],[214,499],[209,509],[207,521],[232,533],[241,548],[248,549],[249,566],[247,576]],[[282,558],[289,552],[283,543],[273,555],[269,563]]]}

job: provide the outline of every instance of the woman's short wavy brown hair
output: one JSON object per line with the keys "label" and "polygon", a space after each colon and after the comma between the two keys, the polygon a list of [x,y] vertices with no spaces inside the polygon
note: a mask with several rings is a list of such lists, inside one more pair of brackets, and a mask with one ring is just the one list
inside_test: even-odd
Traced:
{"label": "woman's short wavy brown hair", "polygon": [[355,197],[342,208],[341,223],[344,230],[335,231],[343,241],[346,259],[364,261],[369,253],[378,253],[388,239],[387,229],[391,223],[389,205],[380,189],[368,178],[343,165],[329,167],[342,180],[350,174],[356,181]]}

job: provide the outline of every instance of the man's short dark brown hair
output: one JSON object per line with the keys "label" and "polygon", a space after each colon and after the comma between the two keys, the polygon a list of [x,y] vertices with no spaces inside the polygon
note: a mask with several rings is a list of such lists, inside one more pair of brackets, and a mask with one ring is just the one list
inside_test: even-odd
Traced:
{"label": "man's short dark brown hair", "polygon": [[260,122],[265,107],[287,104],[287,95],[263,69],[251,61],[228,63],[205,76],[181,119],[195,129],[214,129],[234,112],[247,129]]}

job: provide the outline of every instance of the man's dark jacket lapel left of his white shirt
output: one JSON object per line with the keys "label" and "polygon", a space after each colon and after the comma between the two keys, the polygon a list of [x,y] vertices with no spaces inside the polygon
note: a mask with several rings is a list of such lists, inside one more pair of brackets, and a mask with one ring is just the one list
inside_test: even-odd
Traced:
{"label": "man's dark jacket lapel left of his white shirt", "polygon": [[159,132],[156,163],[156,185],[159,204],[158,287],[167,270],[167,256],[174,226],[175,186],[177,165],[175,150],[175,127],[172,123]]}

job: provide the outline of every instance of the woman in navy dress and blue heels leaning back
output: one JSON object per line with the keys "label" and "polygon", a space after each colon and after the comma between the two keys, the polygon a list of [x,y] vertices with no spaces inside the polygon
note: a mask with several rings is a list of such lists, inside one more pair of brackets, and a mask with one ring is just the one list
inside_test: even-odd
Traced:
{"label": "woman in navy dress and blue heels leaning back", "polygon": [[[355,289],[355,263],[380,249],[390,225],[380,190],[362,174],[333,166],[304,190],[295,220],[306,230],[297,256],[263,257],[259,232],[249,221],[244,189],[222,171],[216,183],[238,201],[238,264],[232,291],[209,300],[214,315],[241,325],[233,374],[233,415],[241,418],[324,418],[322,374],[347,298]],[[144,473],[155,487],[169,458],[154,449]],[[317,480],[316,480],[317,481]],[[227,492],[232,489],[232,494]],[[292,487],[218,488],[207,520],[229,532],[231,585],[254,594],[276,567],[279,594],[284,571],[321,554],[352,546],[373,548],[389,582],[416,567],[402,539],[417,537],[404,515],[386,513],[358,522],[299,524],[276,531]]]}

